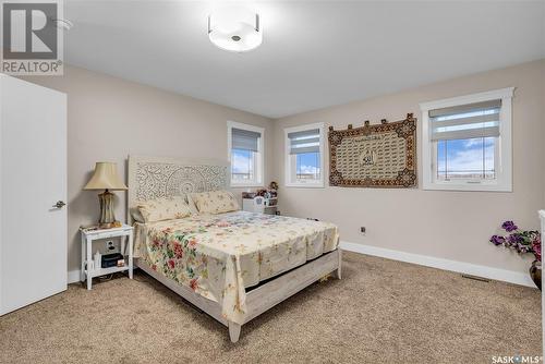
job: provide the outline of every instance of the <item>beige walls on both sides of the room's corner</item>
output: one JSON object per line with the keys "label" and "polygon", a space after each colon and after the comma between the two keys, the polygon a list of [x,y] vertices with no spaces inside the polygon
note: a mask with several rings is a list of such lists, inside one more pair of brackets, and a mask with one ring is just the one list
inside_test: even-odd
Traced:
{"label": "beige walls on both sides of the room's corner", "polygon": [[[545,60],[277,121],[72,66],[63,77],[27,81],[64,92],[69,98],[69,270],[80,266],[77,228],[98,218],[96,193],[82,191],[96,161],[116,161],[124,174],[130,154],[226,159],[227,120],[265,126],[265,181],[280,182],[284,215],[332,221],[343,241],[528,269],[523,259],[487,240],[505,219],[537,228],[536,210],[545,207]],[[513,193],[283,186],[286,126],[325,122],[343,129],[365,119],[399,120],[407,112],[417,116],[422,101],[508,86],[517,87]],[[117,195],[117,216],[124,220],[125,193]],[[367,228],[365,236],[360,235],[360,226]]]}

